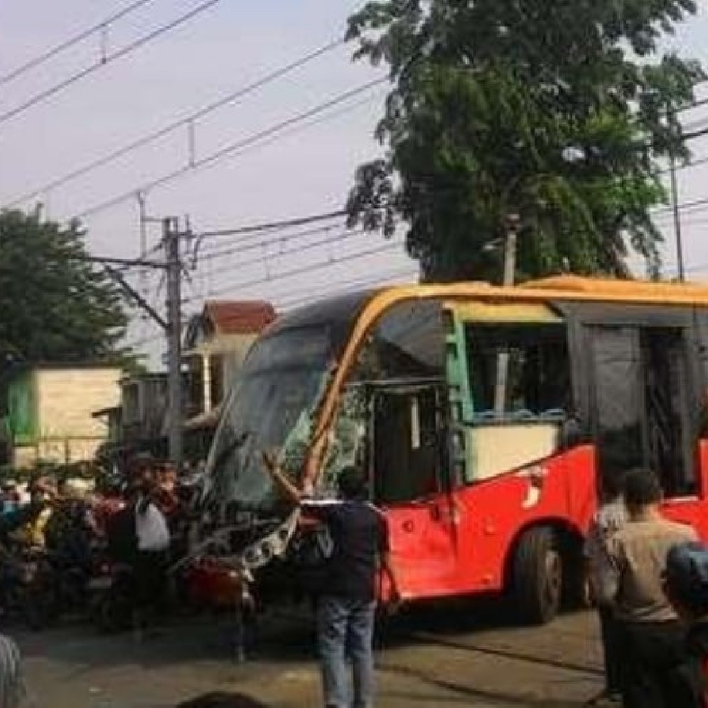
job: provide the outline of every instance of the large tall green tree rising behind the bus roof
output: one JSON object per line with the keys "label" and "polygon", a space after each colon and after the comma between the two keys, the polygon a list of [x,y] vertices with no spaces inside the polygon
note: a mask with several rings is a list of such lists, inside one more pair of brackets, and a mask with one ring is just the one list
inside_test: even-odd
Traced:
{"label": "large tall green tree rising behind the bus roof", "polygon": [[518,276],[653,271],[666,158],[704,78],[659,42],[693,0],[384,0],[350,18],[355,58],[386,64],[380,159],[362,165],[350,224],[406,246],[428,280],[499,280],[510,214]]}

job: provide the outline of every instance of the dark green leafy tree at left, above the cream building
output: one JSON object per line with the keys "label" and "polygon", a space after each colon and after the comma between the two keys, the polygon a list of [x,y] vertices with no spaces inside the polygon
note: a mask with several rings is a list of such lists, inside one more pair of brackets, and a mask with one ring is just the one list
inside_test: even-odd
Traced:
{"label": "dark green leafy tree at left, above the cream building", "polygon": [[78,224],[0,212],[0,370],[12,362],[124,361],[127,315]]}

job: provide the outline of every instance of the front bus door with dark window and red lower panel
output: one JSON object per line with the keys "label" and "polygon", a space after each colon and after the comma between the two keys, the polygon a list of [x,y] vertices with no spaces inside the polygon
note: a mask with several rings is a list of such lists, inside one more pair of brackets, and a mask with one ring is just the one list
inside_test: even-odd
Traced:
{"label": "front bus door with dark window and red lower panel", "polygon": [[383,384],[372,393],[372,468],[404,594],[457,591],[457,527],[445,457],[443,387]]}

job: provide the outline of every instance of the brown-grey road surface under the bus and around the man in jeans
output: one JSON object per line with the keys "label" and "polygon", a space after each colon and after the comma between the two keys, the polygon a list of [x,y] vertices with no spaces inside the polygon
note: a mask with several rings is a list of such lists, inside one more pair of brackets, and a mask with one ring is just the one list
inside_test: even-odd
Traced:
{"label": "brown-grey road surface under the bus and around the man in jeans", "polygon": [[[67,625],[13,633],[37,708],[167,708],[235,692],[265,706],[319,705],[312,634],[302,617],[263,620],[246,663],[234,661],[228,618],[174,622],[141,643]],[[460,603],[409,612],[379,636],[379,708],[561,708],[602,687],[595,617],[518,628],[503,612]]]}

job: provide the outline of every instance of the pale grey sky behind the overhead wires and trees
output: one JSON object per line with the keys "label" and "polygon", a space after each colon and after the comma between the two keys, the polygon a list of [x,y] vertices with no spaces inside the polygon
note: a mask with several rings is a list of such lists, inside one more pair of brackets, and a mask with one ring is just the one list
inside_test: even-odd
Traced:
{"label": "pale grey sky behind the overhead wires and trees", "polygon": [[[0,0],[0,205],[13,204],[26,193],[341,38],[346,18],[362,4],[356,0],[219,0],[46,101],[4,118],[96,62],[102,52],[110,57],[205,2],[151,0],[40,67],[13,81],[2,80],[48,47],[103,22],[133,1]],[[680,28],[666,48],[702,59],[708,67],[708,0],[699,3],[699,15]],[[341,45],[234,105],[196,120],[195,158],[204,159],[382,75],[367,64],[352,62],[351,50]],[[373,130],[384,91],[385,87],[371,89],[319,115],[313,125],[298,124],[297,132],[279,135],[204,169],[186,170],[149,190],[145,210],[156,221],[148,224],[148,245],[159,243],[157,222],[167,216],[188,216],[193,232],[199,233],[340,209],[356,167],[379,154]],[[708,124],[708,109],[692,111],[686,120],[690,125]],[[46,215],[64,221],[125,196],[91,213],[84,222],[92,253],[135,257],[141,244],[137,192],[188,166],[189,146],[189,130],[182,126],[18,206],[31,207],[40,200]],[[692,149],[696,159],[708,156],[708,139],[695,141]],[[708,197],[708,165],[681,170],[679,192],[680,202]],[[708,209],[685,210],[682,217],[688,273],[708,278],[704,237]],[[676,256],[670,214],[658,213],[656,219],[666,229],[663,256],[667,272],[673,273]],[[207,297],[265,298],[285,307],[358,283],[415,277],[415,264],[402,246],[391,244],[382,250],[386,244],[372,234],[354,234],[337,242],[342,231],[336,225],[329,232],[211,259],[205,258],[210,251],[229,251],[234,241],[205,240],[200,245],[202,258],[185,283],[185,316],[198,310]],[[323,244],[330,237],[334,245]],[[312,264],[321,268],[303,270]],[[157,275],[134,282],[148,299],[161,304],[164,287]],[[159,351],[159,342],[152,341],[156,333],[149,321],[136,318],[128,339],[144,342],[142,346],[154,356]]]}

